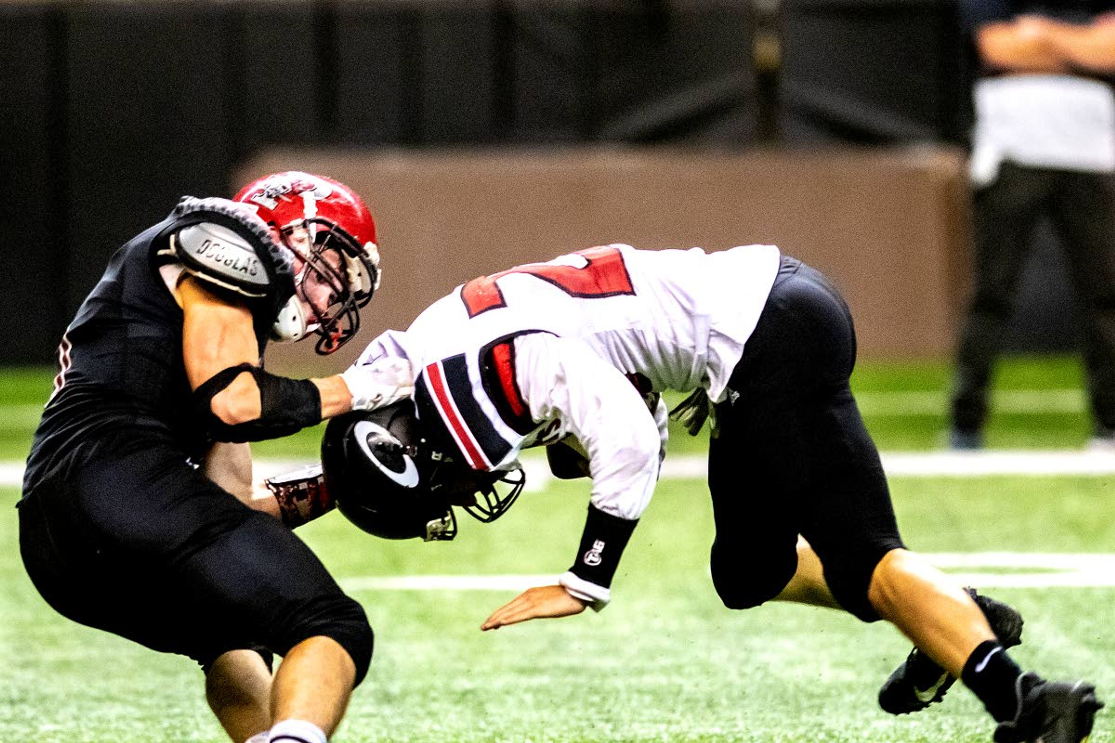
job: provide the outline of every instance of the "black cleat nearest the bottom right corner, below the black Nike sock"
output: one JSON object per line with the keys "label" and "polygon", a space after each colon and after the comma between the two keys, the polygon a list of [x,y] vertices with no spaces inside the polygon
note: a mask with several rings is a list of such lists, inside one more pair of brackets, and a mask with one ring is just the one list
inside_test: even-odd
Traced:
{"label": "black cleat nearest the bottom right corner, below the black Nike sock", "polygon": [[995,729],[995,743],[1086,743],[1104,706],[1092,684],[1043,681],[1032,673],[1018,677],[1018,698],[1015,718]]}

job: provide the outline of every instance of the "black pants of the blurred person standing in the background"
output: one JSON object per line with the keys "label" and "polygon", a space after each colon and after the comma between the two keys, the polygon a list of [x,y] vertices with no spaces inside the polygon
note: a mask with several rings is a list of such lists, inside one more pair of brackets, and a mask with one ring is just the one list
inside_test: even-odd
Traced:
{"label": "black pants of the blurred person standing in the background", "polygon": [[952,426],[979,431],[1034,229],[1053,219],[1079,310],[1097,429],[1115,430],[1115,176],[1005,163],[975,196],[976,286],[960,336]]}

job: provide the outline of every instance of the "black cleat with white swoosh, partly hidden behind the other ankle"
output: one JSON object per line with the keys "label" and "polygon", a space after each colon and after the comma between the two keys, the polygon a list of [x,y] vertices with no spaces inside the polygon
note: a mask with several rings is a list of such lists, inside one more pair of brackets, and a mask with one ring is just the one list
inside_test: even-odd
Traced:
{"label": "black cleat with white swoosh, partly hidden behind the other ankle", "polygon": [[[966,590],[983,612],[987,623],[991,625],[991,630],[1004,647],[1021,644],[1021,614],[1002,602],[980,596],[975,588]],[[894,669],[890,678],[883,682],[882,688],[879,690],[879,706],[892,715],[920,712],[944,698],[944,693],[956,682],[956,676],[915,647],[910,651],[905,662]]]}

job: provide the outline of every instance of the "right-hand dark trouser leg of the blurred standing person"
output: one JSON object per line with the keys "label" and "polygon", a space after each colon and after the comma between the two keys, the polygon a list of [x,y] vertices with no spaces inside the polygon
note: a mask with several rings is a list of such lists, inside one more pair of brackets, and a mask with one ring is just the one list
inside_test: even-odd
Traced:
{"label": "right-hand dark trouser leg of the blurred standing person", "polygon": [[1066,172],[1058,184],[1053,217],[1082,315],[1095,434],[1115,446],[1115,175]]}

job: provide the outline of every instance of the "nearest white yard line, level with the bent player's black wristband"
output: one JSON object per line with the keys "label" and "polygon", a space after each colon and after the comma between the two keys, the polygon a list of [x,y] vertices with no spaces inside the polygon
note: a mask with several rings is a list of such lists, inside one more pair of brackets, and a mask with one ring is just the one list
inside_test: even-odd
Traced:
{"label": "nearest white yard line, level with the bent player's black wristband", "polygon": [[[966,586],[979,588],[1115,587],[1115,555],[1069,553],[935,553],[925,557]],[[957,571],[957,568],[970,568]],[[1014,570],[1040,570],[1016,573]],[[346,590],[517,592],[553,583],[553,575],[411,575],[341,579]]]}

